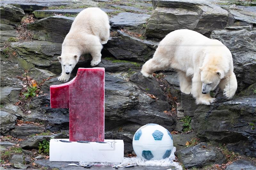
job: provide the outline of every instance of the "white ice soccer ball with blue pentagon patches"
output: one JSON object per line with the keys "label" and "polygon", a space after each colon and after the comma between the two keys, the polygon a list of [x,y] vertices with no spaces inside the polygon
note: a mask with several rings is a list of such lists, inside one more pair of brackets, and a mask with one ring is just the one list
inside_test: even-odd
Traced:
{"label": "white ice soccer ball with blue pentagon patches", "polygon": [[163,126],[149,123],[136,131],[132,146],[141,159],[165,159],[172,153],[173,139],[170,132]]}

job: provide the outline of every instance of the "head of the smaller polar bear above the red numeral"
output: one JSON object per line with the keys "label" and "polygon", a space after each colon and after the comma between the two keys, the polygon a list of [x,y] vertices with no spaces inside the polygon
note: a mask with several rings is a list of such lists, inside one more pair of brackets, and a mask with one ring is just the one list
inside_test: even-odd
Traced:
{"label": "head of the smaller polar bear above the red numeral", "polygon": [[79,60],[76,54],[61,55],[58,57],[58,59],[60,60],[60,63],[64,68],[66,74],[71,73]]}

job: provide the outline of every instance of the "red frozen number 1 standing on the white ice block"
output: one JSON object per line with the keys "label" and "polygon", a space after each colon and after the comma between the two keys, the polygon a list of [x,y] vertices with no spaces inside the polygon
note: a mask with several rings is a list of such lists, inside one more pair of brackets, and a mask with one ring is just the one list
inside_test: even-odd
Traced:
{"label": "red frozen number 1 standing on the white ice block", "polygon": [[52,108],[69,108],[70,141],[104,141],[104,68],[79,68],[76,77],[50,86]]}

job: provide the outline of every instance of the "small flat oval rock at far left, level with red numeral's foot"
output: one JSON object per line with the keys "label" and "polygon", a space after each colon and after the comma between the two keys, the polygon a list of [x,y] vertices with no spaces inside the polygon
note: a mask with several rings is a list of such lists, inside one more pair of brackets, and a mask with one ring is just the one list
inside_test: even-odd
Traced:
{"label": "small flat oval rock at far left, level with red numeral's foot", "polygon": [[33,124],[26,124],[23,126],[17,126],[10,132],[10,135],[15,138],[26,138],[30,135],[35,135],[38,133],[43,133],[43,128],[33,125]]}

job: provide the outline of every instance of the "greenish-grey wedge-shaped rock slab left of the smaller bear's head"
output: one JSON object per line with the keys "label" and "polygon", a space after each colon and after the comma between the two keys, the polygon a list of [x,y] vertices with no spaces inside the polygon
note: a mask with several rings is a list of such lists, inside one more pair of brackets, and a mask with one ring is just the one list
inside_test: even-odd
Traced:
{"label": "greenish-grey wedge-shaped rock slab left of the smaller bear's head", "polygon": [[12,42],[11,46],[27,62],[44,68],[51,67],[61,54],[61,44],[48,41]]}

